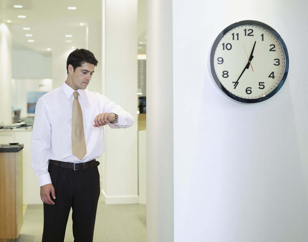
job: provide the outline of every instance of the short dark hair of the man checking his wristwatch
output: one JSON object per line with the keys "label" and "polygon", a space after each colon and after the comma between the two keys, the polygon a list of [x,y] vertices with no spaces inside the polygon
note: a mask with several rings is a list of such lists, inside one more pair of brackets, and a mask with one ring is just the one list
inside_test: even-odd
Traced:
{"label": "short dark hair of the man checking his wristwatch", "polygon": [[68,74],[68,65],[71,64],[75,72],[75,69],[79,66],[82,66],[82,64],[85,62],[93,64],[95,66],[97,66],[98,63],[98,61],[96,60],[95,56],[91,51],[86,49],[75,49],[67,57],[67,62],[66,62],[67,74]]}

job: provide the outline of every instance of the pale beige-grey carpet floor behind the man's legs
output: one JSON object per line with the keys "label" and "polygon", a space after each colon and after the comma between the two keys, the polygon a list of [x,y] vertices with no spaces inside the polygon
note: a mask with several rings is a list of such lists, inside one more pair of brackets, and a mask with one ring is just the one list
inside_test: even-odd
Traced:
{"label": "pale beige-grey carpet floor behind the man's legs", "polygon": [[[72,212],[72,211],[71,211]],[[18,239],[14,242],[41,242],[43,204],[28,205]],[[73,242],[71,214],[64,242]],[[95,220],[94,242],[145,242],[146,205],[106,205],[99,201]],[[55,241],[56,242],[56,241]]]}

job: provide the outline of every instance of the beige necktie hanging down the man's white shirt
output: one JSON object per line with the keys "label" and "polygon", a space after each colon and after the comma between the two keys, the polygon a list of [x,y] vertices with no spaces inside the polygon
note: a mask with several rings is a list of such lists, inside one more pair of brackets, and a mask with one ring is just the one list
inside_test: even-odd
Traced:
{"label": "beige necktie hanging down the man's white shirt", "polygon": [[83,119],[78,92],[74,92],[73,115],[72,115],[72,153],[79,160],[87,153],[86,140],[83,132]]}

